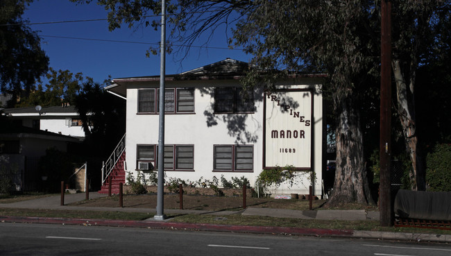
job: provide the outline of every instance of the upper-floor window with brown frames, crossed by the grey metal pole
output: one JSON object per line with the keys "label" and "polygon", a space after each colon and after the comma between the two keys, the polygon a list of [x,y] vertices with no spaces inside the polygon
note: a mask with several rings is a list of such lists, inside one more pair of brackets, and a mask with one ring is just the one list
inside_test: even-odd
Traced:
{"label": "upper-floor window with brown frames, crossed by the grey metal pole", "polygon": [[[160,112],[160,89],[138,90],[138,113]],[[194,112],[194,88],[164,89],[164,112]]]}

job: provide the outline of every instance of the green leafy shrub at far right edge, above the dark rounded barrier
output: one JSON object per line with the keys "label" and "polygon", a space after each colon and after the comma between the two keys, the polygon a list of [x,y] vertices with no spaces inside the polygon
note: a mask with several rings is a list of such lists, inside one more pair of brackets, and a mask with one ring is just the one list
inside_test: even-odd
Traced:
{"label": "green leafy shrub at far right edge, above the dark rounded barrier", "polygon": [[427,154],[426,162],[427,190],[451,191],[451,145],[437,145]]}

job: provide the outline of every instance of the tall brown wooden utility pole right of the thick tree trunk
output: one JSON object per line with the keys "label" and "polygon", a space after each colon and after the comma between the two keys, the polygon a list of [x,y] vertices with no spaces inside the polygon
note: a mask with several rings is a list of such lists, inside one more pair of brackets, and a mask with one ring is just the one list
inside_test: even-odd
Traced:
{"label": "tall brown wooden utility pole right of the thick tree trunk", "polygon": [[391,208],[391,0],[381,1],[380,225],[393,225]]}

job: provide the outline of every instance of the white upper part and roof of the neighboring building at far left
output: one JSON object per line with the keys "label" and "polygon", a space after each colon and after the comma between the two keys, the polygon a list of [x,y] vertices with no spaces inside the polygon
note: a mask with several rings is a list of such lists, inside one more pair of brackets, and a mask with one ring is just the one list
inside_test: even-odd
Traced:
{"label": "white upper part and roof of the neighboring building at far left", "polygon": [[83,139],[82,122],[74,106],[67,103],[54,107],[6,108],[7,119],[18,126],[36,128]]}

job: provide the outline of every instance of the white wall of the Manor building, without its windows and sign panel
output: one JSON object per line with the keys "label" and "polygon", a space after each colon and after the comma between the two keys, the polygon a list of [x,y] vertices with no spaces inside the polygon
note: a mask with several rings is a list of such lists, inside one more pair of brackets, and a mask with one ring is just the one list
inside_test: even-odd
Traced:
{"label": "white wall of the Manor building, without its windows and sign panel", "polygon": [[[321,169],[323,165],[323,99],[319,93],[318,80],[306,79],[303,83],[280,83],[279,87],[294,89],[314,89],[314,139],[312,140],[312,169],[316,174],[314,194],[321,195]],[[264,156],[264,93],[256,91],[255,112],[252,114],[214,114],[214,87],[239,86],[239,80],[190,80],[168,81],[166,87],[196,87],[194,94],[195,114],[165,114],[165,144],[194,145],[194,171],[166,171],[167,178],[196,181],[201,177],[212,180],[214,176],[227,180],[232,177],[248,178],[250,185],[263,169]],[[137,114],[137,96],[139,88],[159,87],[158,82],[137,85],[127,89],[127,168],[137,175],[137,144],[158,144],[158,114]],[[213,171],[214,145],[252,144],[252,172]],[[309,174],[301,175],[294,187],[281,185],[273,194],[308,194],[312,182]]]}

